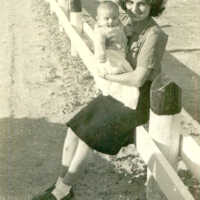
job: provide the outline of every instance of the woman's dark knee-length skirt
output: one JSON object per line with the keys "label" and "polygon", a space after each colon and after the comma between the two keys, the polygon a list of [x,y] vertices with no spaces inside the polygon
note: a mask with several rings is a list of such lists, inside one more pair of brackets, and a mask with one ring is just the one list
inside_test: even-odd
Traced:
{"label": "woman's dark knee-length skirt", "polygon": [[149,119],[151,82],[140,88],[136,110],[125,107],[111,96],[99,95],[66,124],[88,146],[115,155],[121,147],[135,142],[135,128]]}

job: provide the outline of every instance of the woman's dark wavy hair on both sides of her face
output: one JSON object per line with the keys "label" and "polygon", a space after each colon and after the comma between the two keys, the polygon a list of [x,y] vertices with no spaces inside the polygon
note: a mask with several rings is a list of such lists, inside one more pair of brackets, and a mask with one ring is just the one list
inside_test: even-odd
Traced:
{"label": "woman's dark wavy hair on both sides of her face", "polygon": [[[120,6],[122,9],[126,10],[126,2],[128,0],[120,0]],[[151,6],[150,16],[157,17],[159,16],[164,10],[165,7],[163,6],[165,0],[146,0],[146,2]]]}

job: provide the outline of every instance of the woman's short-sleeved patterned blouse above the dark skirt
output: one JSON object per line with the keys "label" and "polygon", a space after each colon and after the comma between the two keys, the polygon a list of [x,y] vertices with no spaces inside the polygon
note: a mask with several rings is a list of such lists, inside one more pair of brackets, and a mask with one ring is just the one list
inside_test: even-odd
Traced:
{"label": "woman's short-sleeved patterned blouse above the dark skirt", "polygon": [[161,61],[168,36],[151,17],[142,24],[133,23],[128,14],[121,9],[120,19],[128,37],[127,60],[133,69],[152,69],[148,79],[153,80],[161,72]]}

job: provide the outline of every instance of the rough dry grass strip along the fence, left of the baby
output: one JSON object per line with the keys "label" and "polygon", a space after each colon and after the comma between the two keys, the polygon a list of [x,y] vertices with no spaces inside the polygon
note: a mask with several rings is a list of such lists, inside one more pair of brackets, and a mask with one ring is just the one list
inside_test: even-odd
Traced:
{"label": "rough dry grass strip along the fence, left of the baby", "polygon": [[[44,12],[39,18],[45,20],[50,32],[52,51],[59,54],[59,62],[62,66],[62,77],[55,77],[52,69],[51,80],[60,79],[62,88],[60,95],[65,97],[64,113],[70,113],[90,101],[98,93],[94,87],[94,81],[87,68],[79,57],[72,57],[70,54],[70,41],[66,33],[60,32],[55,15],[50,16],[48,4],[43,0],[38,0],[44,6]],[[85,37],[86,38],[86,37]],[[53,66],[56,68],[56,66]],[[49,81],[51,81],[49,80]]]}

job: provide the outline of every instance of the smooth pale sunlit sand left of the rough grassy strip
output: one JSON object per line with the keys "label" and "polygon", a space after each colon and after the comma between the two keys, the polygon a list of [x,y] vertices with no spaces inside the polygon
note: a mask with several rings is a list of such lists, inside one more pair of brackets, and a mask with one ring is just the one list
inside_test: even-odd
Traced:
{"label": "smooth pale sunlit sand left of the rough grassy strip", "polygon": [[[12,0],[4,5],[4,10],[8,11],[5,22],[8,23],[9,29],[6,36],[9,38],[7,45],[9,50],[8,56],[2,56],[6,58],[8,65],[5,67],[4,64],[2,67],[8,70],[10,80],[9,105],[5,105],[8,113],[5,111],[5,115],[15,118],[45,117],[47,109],[44,104],[51,98],[50,94],[55,84],[47,85],[51,72],[49,66],[45,68],[43,65],[57,64],[56,55],[51,56],[53,52],[50,49],[45,50],[45,45],[51,46],[48,44],[51,41],[45,40],[43,27],[40,28],[40,24],[33,23],[35,16],[31,10],[31,1]],[[45,37],[48,38],[48,35]],[[2,74],[2,76],[4,76],[2,80],[5,80],[6,75]],[[5,93],[6,91],[3,94]]]}

